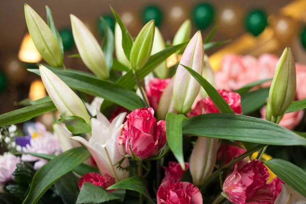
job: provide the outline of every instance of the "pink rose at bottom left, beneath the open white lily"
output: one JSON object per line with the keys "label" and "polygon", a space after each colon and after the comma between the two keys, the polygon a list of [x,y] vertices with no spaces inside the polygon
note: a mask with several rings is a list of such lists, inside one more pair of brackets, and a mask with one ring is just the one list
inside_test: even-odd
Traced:
{"label": "pink rose at bottom left, beneath the open white lily", "polygon": [[[110,176],[109,174],[105,174],[104,176],[101,176],[98,173],[91,172],[91,173],[85,173],[79,180],[79,189],[81,190],[83,184],[86,182],[90,182],[93,185],[101,186],[105,189],[115,184],[115,178]],[[113,190],[108,190],[108,192],[112,192]]]}

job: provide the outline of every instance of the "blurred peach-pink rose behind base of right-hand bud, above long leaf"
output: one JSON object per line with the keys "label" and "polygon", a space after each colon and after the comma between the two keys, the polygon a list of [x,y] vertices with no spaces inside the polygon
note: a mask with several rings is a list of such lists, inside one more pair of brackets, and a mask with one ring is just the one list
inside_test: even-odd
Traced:
{"label": "blurred peach-pink rose behind base of right-hand bud, above long leaf", "polygon": [[[260,113],[262,115],[262,119],[266,119],[266,106],[264,106]],[[287,128],[288,130],[293,130],[294,127],[296,127],[303,118],[303,110],[292,112],[292,113],[286,113],[284,117],[282,118],[281,122],[279,122],[279,125]]]}

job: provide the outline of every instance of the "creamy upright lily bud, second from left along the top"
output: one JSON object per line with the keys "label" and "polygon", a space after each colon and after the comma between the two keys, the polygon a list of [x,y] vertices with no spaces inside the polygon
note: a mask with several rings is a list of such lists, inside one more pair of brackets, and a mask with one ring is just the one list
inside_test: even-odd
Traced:
{"label": "creamy upright lily bud, second from left along the top", "polygon": [[84,64],[100,79],[109,78],[103,51],[86,25],[70,14],[72,34]]}

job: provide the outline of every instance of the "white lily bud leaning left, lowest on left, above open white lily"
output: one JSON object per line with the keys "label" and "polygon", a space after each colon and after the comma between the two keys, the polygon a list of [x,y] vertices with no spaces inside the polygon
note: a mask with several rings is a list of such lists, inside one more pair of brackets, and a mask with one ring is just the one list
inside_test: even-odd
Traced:
{"label": "white lily bud leaning left, lowest on left, above open white lily", "polygon": [[39,65],[39,72],[43,85],[59,112],[65,117],[71,115],[82,117],[90,124],[88,112],[79,96],[43,65]]}

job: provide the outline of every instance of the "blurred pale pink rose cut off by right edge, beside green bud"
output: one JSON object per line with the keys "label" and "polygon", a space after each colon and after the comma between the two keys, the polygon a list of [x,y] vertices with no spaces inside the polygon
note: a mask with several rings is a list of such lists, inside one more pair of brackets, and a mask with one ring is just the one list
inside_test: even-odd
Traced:
{"label": "blurred pale pink rose cut off by right edge, beside green bud", "polygon": [[306,98],[306,66],[296,64],[296,97]]}

